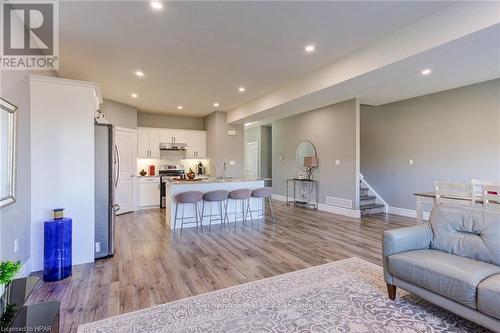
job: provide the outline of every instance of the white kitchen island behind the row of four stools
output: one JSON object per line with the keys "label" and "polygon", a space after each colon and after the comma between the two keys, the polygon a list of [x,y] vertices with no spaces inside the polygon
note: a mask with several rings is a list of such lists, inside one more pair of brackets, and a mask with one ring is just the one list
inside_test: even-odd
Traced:
{"label": "white kitchen island behind the row of four stools", "polygon": [[[209,179],[202,179],[202,180],[170,180],[166,184],[166,220],[167,220],[167,225],[170,226],[170,228],[174,228],[174,219],[175,219],[175,196],[179,193],[182,192],[187,192],[187,191],[200,191],[203,193],[209,192],[209,191],[214,191],[214,190],[226,190],[228,192],[231,192],[233,190],[237,189],[257,189],[260,187],[264,187],[264,180],[262,179],[236,179],[236,178],[225,178],[225,179],[218,179],[218,178],[209,178]],[[241,205],[238,203],[238,214],[236,214],[236,202],[234,200],[229,200],[228,205],[227,205],[227,215],[229,218],[229,222],[233,223],[235,221],[242,221],[242,214],[241,214]],[[201,209],[202,209],[203,201],[198,203],[198,209],[200,212],[201,216]],[[205,215],[210,214],[210,202],[205,203]],[[194,205],[192,204],[185,204],[185,205],[179,205],[179,211],[178,211],[178,220],[177,220],[177,228],[180,229],[180,217],[182,214],[182,206],[184,206],[184,217],[194,217]],[[212,214],[217,214],[218,213],[218,205],[217,203],[213,203],[212,206]],[[256,198],[251,198],[250,199],[250,207],[252,210],[259,210],[262,207],[262,200],[261,199],[256,199]],[[257,213],[252,213],[253,218],[257,218]],[[216,218],[216,217],[214,217]],[[250,215],[247,216],[247,219],[250,220]],[[190,221],[192,220],[194,222],[194,219],[189,219]],[[205,217],[203,219],[203,226],[208,226],[209,223],[209,217]],[[220,221],[212,221],[212,225],[215,224],[220,224]],[[195,226],[196,224],[190,224],[189,226]],[[184,225],[184,228],[186,228],[186,225]]]}

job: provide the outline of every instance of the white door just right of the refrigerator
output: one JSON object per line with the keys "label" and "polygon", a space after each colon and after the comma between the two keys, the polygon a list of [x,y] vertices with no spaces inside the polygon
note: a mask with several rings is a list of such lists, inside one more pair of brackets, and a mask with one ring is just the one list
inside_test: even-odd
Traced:
{"label": "white door just right of the refrigerator", "polygon": [[137,173],[137,132],[117,127],[115,143],[118,151],[119,176],[115,189],[115,201],[120,206],[117,214],[135,209],[135,175]]}

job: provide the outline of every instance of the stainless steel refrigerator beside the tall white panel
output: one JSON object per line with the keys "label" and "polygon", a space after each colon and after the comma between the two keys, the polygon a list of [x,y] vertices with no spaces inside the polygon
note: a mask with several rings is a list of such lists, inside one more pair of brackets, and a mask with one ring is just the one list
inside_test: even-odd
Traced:
{"label": "stainless steel refrigerator beside the tall white panel", "polygon": [[95,124],[95,258],[115,253],[115,202],[120,159],[113,125]]}

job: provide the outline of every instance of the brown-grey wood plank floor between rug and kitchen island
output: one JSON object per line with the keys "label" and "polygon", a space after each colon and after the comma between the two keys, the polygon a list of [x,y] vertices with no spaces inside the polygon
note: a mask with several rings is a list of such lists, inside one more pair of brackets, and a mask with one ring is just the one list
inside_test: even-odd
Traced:
{"label": "brown-grey wood plank floor between rug and kitchen island", "polygon": [[415,223],[273,206],[276,226],[256,221],[182,236],[167,228],[163,210],[121,215],[114,257],[40,283],[29,301],[60,301],[61,332],[76,332],[83,323],[353,256],[381,265],[382,231]]}

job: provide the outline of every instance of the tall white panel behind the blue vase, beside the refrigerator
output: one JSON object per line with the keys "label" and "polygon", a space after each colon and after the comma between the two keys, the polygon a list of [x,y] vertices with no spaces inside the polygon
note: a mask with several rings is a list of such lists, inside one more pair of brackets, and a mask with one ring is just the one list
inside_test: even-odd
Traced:
{"label": "tall white panel behind the blue vase, beside the refrigerator", "polygon": [[73,265],[94,261],[94,87],[31,77],[31,259],[43,268],[43,221],[73,218]]}

